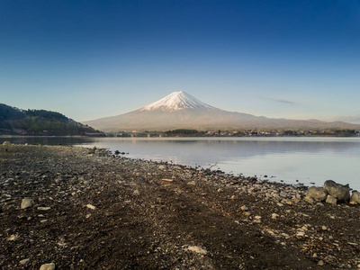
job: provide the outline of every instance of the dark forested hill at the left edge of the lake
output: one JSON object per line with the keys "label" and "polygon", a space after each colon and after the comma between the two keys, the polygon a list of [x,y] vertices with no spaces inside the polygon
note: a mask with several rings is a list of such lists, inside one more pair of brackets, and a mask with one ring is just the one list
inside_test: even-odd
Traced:
{"label": "dark forested hill at the left edge of the lake", "polygon": [[59,112],[20,110],[0,103],[0,135],[85,135],[100,131]]}

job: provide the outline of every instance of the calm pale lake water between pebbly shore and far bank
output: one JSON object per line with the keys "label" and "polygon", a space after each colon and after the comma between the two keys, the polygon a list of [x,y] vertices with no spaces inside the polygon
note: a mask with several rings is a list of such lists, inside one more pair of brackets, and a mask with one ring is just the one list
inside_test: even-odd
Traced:
{"label": "calm pale lake water between pebbly shore and far bank", "polygon": [[212,166],[287,184],[322,185],[332,179],[360,190],[360,138],[0,138],[4,140],[96,146],[129,152],[126,157]]}

